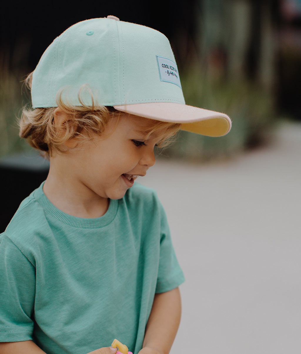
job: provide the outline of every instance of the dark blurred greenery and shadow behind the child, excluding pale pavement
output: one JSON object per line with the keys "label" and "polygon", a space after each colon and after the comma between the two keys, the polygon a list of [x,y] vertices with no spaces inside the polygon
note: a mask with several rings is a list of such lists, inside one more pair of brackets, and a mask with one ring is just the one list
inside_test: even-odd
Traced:
{"label": "dark blurred greenery and shadow behind the child, excluding pale pavement", "polygon": [[232,118],[232,131],[217,140],[181,133],[167,150],[172,158],[232,156],[261,144],[279,116],[301,120],[301,0],[6,1],[0,11],[0,232],[47,176],[45,165],[24,169],[22,157],[5,162],[11,154],[31,154],[18,138],[16,117],[30,102],[21,81],[66,28],[107,15],[164,33],[186,103]]}

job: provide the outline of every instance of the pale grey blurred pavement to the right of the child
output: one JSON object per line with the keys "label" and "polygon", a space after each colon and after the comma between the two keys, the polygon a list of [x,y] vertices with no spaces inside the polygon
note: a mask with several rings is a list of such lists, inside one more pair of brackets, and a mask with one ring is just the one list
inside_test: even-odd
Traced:
{"label": "pale grey blurred pavement to the right of the child", "polygon": [[159,160],[138,179],[157,190],[186,276],[171,354],[301,353],[300,154],[301,124],[284,123],[231,161]]}

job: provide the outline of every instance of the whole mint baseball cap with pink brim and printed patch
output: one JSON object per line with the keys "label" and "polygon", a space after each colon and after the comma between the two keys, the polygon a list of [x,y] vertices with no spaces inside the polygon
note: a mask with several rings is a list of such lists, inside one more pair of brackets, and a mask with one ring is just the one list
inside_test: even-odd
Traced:
{"label": "whole mint baseball cap with pink brim and printed patch", "polygon": [[[98,104],[180,123],[182,130],[223,136],[231,129],[226,114],[185,104],[164,34],[112,15],[78,22],[50,44],[33,72],[33,108],[57,107],[60,90],[68,102],[81,106],[82,87],[89,87]],[[83,91],[83,97],[86,105],[92,105],[91,94]]]}

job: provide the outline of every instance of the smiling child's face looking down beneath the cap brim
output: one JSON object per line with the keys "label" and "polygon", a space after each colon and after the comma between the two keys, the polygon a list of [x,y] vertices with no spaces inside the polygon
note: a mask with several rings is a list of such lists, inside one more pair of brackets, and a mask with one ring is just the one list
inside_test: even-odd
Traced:
{"label": "smiling child's face looking down beneath the cap brim", "polygon": [[76,183],[85,185],[95,196],[122,198],[135,179],[146,175],[155,163],[154,146],[164,136],[161,132],[145,139],[144,131],[151,122],[121,114],[109,122],[101,137],[70,149],[68,168],[72,168]]}

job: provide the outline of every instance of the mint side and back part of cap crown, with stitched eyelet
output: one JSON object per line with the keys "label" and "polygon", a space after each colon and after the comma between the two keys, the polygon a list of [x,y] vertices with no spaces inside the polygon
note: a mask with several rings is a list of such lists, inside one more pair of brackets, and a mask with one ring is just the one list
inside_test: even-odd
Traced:
{"label": "mint side and back part of cap crown, with stitched eyelet", "polygon": [[[61,89],[66,90],[66,99],[80,105],[77,95],[85,84],[98,103],[119,102],[118,47],[114,20],[97,18],[69,27],[47,48],[34,71],[33,107],[56,107],[56,94]],[[85,103],[90,104],[90,95],[83,94]]]}

